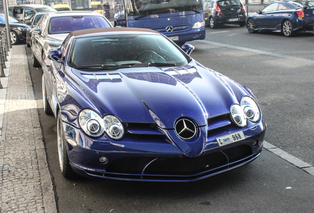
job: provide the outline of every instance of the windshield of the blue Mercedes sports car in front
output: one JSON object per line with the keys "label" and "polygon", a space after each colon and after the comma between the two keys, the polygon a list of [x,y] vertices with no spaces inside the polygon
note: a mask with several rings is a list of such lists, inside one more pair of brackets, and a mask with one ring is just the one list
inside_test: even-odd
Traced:
{"label": "windshield of the blue Mercedes sports car in front", "polygon": [[[142,64],[143,63],[143,64]],[[70,67],[94,66],[183,66],[186,56],[161,35],[115,35],[76,38],[71,48]],[[101,66],[102,65],[102,66]]]}

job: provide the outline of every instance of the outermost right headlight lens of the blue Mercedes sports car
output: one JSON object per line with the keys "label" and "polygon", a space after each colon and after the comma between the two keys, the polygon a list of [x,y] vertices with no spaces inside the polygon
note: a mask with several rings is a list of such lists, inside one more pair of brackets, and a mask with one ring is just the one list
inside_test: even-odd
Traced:
{"label": "outermost right headlight lens of the blue Mercedes sports car", "polygon": [[257,122],[260,119],[260,109],[252,98],[244,96],[241,99],[241,106],[243,107],[244,114],[249,121]]}

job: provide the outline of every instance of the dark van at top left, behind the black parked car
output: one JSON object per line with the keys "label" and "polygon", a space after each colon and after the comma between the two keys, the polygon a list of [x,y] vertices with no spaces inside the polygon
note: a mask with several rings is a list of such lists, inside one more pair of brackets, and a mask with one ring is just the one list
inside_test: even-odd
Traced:
{"label": "dark van at top left, behind the black parked car", "polygon": [[20,21],[29,21],[37,12],[55,12],[51,6],[41,4],[20,4],[8,6],[10,16],[13,16]]}

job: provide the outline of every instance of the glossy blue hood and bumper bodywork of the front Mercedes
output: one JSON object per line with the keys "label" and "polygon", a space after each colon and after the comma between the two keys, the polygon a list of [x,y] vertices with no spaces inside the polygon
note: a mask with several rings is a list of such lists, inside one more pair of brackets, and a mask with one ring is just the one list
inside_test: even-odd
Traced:
{"label": "glossy blue hood and bumper bodywork of the front Mercedes", "polygon": [[[204,68],[192,59],[183,67],[194,67],[196,71],[193,74],[173,74],[172,68],[143,67],[111,71],[111,75],[118,74],[121,78],[96,80],[86,77],[90,72],[65,66],[68,54],[67,51],[63,65],[60,66],[61,70],[58,69],[57,62],[49,63],[49,60],[46,60],[43,73],[45,78],[49,76],[47,73],[54,73],[52,77],[55,79],[54,91],[49,91],[48,94],[57,94],[55,97],[61,110],[69,159],[77,173],[95,178],[194,181],[236,168],[254,160],[260,154],[266,132],[262,115],[257,123],[248,121],[244,128],[231,125],[225,130],[208,135],[207,131],[211,128],[207,123],[208,118],[230,113],[230,107],[235,103],[239,104],[243,96],[255,99],[250,90],[230,78]],[[174,68],[183,71],[183,67]],[[51,68],[56,70],[52,71]],[[138,73],[159,76],[160,80],[137,78]],[[48,100],[51,106],[56,105],[51,98],[48,97]],[[78,115],[85,108],[95,110],[102,117],[106,114],[115,114],[122,123],[154,123],[157,126],[156,132],[145,134],[153,134],[155,137],[147,140],[125,134],[121,140],[115,141],[104,134],[100,138],[91,138],[79,127]],[[183,141],[177,137],[174,123],[180,117],[194,119],[197,125],[196,139]],[[176,177],[173,175],[148,174],[141,174],[139,178],[139,174],[115,174],[106,171],[110,163],[122,157],[195,158],[220,152],[235,144],[220,147],[216,138],[239,130],[243,131],[245,140],[238,142],[237,145],[249,146],[252,154],[245,159],[228,162],[219,168],[200,171],[193,175],[180,175],[177,178],[173,178]],[[254,141],[258,143],[253,145]],[[108,157],[109,162],[100,163],[100,156]],[[144,176],[146,178],[143,178]]]}

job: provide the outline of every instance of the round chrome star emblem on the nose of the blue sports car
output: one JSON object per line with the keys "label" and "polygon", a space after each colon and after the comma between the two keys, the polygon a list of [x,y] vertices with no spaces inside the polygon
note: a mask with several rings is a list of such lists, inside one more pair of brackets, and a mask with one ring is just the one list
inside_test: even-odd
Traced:
{"label": "round chrome star emblem on the nose of the blue sports car", "polygon": [[183,140],[192,139],[196,135],[196,126],[191,120],[182,118],[174,126],[176,134]]}

